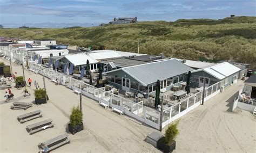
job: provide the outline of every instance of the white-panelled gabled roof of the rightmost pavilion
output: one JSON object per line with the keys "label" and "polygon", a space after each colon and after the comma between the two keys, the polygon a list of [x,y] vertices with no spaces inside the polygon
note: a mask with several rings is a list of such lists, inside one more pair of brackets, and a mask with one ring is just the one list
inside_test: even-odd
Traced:
{"label": "white-panelled gabled roof of the rightmost pavilion", "polygon": [[207,72],[208,74],[214,76],[215,78],[224,79],[224,78],[234,74],[235,72],[240,71],[241,69],[239,69],[238,67],[235,67],[234,65],[232,65],[228,62],[223,62],[223,63],[219,63],[217,65],[213,65],[212,67],[195,70],[193,72],[202,71],[202,70]]}

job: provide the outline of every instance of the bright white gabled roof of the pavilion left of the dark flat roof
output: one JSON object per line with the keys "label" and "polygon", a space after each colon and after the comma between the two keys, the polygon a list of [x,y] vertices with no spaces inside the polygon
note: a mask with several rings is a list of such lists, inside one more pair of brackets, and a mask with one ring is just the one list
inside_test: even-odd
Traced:
{"label": "bright white gabled roof of the pavilion left of the dark flat roof", "polygon": [[69,60],[75,66],[77,65],[86,65],[86,61],[89,60],[89,63],[98,63],[97,60],[92,59],[90,56],[86,54],[69,54],[64,56],[67,60]]}

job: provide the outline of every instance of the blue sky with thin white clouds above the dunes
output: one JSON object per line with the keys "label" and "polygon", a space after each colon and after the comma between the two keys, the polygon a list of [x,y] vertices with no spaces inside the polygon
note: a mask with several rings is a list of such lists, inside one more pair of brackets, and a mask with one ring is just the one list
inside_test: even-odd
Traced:
{"label": "blue sky with thin white clouds above the dunes", "polygon": [[256,0],[0,0],[4,27],[98,26],[114,17],[138,21],[256,16]]}

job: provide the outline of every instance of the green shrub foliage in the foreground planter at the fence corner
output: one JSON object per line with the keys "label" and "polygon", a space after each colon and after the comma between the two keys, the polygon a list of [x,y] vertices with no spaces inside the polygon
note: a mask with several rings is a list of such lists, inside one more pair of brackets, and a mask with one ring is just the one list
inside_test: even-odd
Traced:
{"label": "green shrub foliage in the foreground planter at the fence corner", "polygon": [[176,139],[176,136],[179,134],[178,124],[179,121],[172,122],[165,130],[165,143],[172,144],[172,142]]}

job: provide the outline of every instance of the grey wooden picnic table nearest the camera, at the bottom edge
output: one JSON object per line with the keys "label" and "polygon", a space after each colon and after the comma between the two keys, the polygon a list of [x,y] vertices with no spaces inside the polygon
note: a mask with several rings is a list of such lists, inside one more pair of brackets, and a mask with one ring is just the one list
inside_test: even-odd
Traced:
{"label": "grey wooden picnic table nearest the camera, at the bottom edge", "polygon": [[51,151],[67,143],[70,143],[70,140],[68,139],[68,134],[63,134],[46,140],[45,142],[39,143],[38,148],[43,149],[43,144],[45,144],[48,147],[48,151]]}

